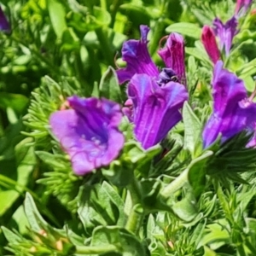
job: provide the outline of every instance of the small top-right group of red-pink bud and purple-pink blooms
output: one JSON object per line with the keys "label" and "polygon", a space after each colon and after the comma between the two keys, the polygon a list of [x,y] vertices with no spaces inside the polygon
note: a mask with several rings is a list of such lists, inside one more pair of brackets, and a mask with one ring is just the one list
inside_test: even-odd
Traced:
{"label": "small top-right group of red-pink bud and purple-pink blooms", "polygon": [[[201,41],[214,64],[220,59],[220,51],[224,50],[226,56],[230,54],[233,38],[238,33],[237,20],[247,12],[251,3],[252,0],[238,0],[235,13],[230,20],[223,23],[222,20],[216,18],[212,22],[213,27],[207,25],[203,27]],[[216,37],[219,39],[219,48]]]}

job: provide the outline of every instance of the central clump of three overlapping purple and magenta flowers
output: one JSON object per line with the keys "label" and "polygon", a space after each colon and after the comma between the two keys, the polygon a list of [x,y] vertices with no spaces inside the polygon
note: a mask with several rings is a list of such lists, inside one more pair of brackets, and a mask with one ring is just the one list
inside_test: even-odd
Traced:
{"label": "central clump of three overlapping purple and magenta flowers", "polygon": [[159,55],[166,63],[160,71],[148,53],[148,26],[140,26],[141,39],[125,42],[126,67],[117,70],[119,83],[130,81],[124,113],[134,123],[137,140],[147,149],[166,137],[182,119],[180,109],[188,99],[184,65],[184,41],[172,33]]}

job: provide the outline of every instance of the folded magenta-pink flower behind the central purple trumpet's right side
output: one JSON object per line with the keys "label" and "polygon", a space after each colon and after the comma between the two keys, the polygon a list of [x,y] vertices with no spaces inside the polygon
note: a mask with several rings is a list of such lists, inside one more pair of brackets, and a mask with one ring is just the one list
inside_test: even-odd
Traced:
{"label": "folded magenta-pink flower behind the central purple trumpet's right side", "polygon": [[177,74],[178,81],[186,85],[185,54],[183,36],[173,32],[166,41],[166,47],[160,49],[158,54],[166,63],[166,67],[172,68]]}

